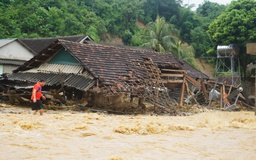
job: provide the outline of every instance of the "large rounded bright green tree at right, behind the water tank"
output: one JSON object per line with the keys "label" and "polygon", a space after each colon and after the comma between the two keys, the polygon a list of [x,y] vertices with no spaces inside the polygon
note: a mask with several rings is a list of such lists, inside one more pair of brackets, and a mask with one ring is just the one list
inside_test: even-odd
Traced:
{"label": "large rounded bright green tree at right, behind the water tank", "polygon": [[215,46],[219,44],[237,44],[240,47],[240,60],[246,78],[247,58],[245,45],[256,41],[256,1],[238,0],[232,1],[210,26],[208,32]]}

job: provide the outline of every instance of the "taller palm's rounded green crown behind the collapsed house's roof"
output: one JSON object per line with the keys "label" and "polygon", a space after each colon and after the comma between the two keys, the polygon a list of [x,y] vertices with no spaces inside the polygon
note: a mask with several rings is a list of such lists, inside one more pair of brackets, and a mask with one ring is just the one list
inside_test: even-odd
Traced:
{"label": "taller palm's rounded green crown behind the collapsed house's roof", "polygon": [[141,38],[146,41],[142,46],[157,52],[168,52],[171,45],[179,40],[178,30],[160,17],[157,17],[155,22],[150,22],[145,26]]}

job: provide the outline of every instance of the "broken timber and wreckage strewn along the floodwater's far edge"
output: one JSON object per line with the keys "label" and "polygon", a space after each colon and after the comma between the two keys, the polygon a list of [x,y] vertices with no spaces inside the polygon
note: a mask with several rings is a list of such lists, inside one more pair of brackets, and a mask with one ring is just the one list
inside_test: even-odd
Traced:
{"label": "broken timber and wreckage strewn along the floodwater's far edge", "polygon": [[[98,85],[86,92],[69,87],[45,87],[45,108],[103,114],[190,116],[210,109],[241,110],[246,104],[242,87],[196,80],[184,70],[160,69],[151,59],[133,62],[130,68],[129,76],[120,76],[115,85]],[[134,70],[142,74],[134,74]],[[30,88],[12,86],[6,86],[1,92],[1,100],[29,106]]]}

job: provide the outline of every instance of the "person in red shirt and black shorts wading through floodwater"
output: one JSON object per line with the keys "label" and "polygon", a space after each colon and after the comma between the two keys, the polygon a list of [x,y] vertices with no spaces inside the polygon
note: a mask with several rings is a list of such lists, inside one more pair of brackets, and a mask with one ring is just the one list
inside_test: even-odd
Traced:
{"label": "person in red shirt and black shorts wading through floodwater", "polygon": [[45,96],[43,96],[42,94],[42,87],[45,85],[45,80],[40,80],[38,81],[33,89],[32,89],[32,95],[31,95],[31,107],[32,110],[34,110],[34,114],[37,113],[37,111],[39,111],[40,115],[43,115],[43,103],[41,101],[41,99],[45,100]]}

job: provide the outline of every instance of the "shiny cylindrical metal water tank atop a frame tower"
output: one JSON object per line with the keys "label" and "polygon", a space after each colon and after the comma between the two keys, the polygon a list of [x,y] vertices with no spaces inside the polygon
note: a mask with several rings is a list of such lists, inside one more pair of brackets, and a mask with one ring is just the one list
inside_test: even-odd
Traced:
{"label": "shiny cylindrical metal water tank atop a frame tower", "polygon": [[235,45],[218,45],[217,56],[237,56],[239,53],[238,47]]}

